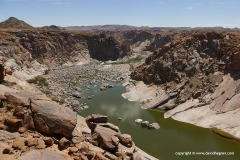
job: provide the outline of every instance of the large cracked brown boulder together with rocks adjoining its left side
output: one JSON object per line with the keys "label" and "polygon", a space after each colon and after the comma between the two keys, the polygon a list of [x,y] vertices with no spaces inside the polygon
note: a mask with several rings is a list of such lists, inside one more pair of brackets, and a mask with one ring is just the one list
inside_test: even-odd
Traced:
{"label": "large cracked brown boulder together with rocks adjoining its left side", "polygon": [[13,112],[17,119],[6,118],[6,125],[36,129],[49,135],[72,137],[77,118],[76,113],[69,108],[60,106],[43,95],[27,92],[6,92],[4,96],[10,105],[18,105]]}

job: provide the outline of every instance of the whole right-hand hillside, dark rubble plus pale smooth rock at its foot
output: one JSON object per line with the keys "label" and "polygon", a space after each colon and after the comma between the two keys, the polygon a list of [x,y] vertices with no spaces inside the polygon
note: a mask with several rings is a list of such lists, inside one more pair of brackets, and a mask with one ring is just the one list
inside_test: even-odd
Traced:
{"label": "whole right-hand hillside, dark rubble plus pale smooth rock at its foot", "polygon": [[238,139],[239,42],[237,32],[196,31],[157,49],[131,74],[160,88],[146,108]]}

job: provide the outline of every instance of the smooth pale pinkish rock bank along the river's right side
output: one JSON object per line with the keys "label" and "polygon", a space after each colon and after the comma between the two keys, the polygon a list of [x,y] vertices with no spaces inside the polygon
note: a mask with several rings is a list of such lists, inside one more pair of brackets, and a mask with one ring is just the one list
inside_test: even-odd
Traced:
{"label": "smooth pale pinkish rock bank along the river's right side", "polygon": [[[220,96],[220,93],[225,92],[226,89],[228,90],[227,92],[235,92],[236,87],[231,88],[226,86],[236,85],[238,81],[233,80],[229,75],[223,79],[224,81],[219,84],[216,91],[212,95],[205,97],[206,100],[216,95]],[[219,99],[212,98],[208,103],[200,102],[199,99],[191,99],[181,105],[177,105],[175,101],[169,99],[170,95],[161,87],[145,85],[143,82],[133,82],[128,84],[127,92],[123,94],[123,97],[130,101],[139,102],[142,104],[142,108],[145,109],[167,109],[169,111],[164,114],[165,118],[173,118],[174,120],[203,128],[217,128],[232,135],[228,137],[223,136],[225,138],[237,141],[240,138],[240,125],[238,123],[240,120],[240,110],[236,107],[237,104],[234,101],[228,102],[228,107],[232,108],[227,111],[219,112],[213,109],[213,105],[219,103],[221,96]],[[219,135],[222,136],[220,133]]]}

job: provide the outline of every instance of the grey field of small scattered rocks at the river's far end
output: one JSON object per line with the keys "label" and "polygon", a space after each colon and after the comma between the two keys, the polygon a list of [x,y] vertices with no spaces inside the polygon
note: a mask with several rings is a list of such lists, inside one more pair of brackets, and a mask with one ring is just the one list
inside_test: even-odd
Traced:
{"label": "grey field of small scattered rocks at the river's far end", "polygon": [[[94,95],[85,92],[102,85],[100,90],[112,88],[112,83],[120,82],[129,74],[129,66],[103,65],[96,61],[81,66],[55,67],[47,77],[48,86],[39,87],[52,99],[62,99],[63,104],[76,112],[86,108],[79,99],[92,99]],[[94,77],[94,79],[93,79]]]}

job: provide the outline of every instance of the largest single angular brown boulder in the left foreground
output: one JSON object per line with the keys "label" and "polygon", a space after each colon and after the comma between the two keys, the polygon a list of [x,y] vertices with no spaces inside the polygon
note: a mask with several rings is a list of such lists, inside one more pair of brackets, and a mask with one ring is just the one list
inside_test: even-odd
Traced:
{"label": "largest single angular brown boulder in the left foreground", "polygon": [[47,134],[72,137],[77,124],[77,114],[56,102],[33,100],[31,102],[35,128]]}

